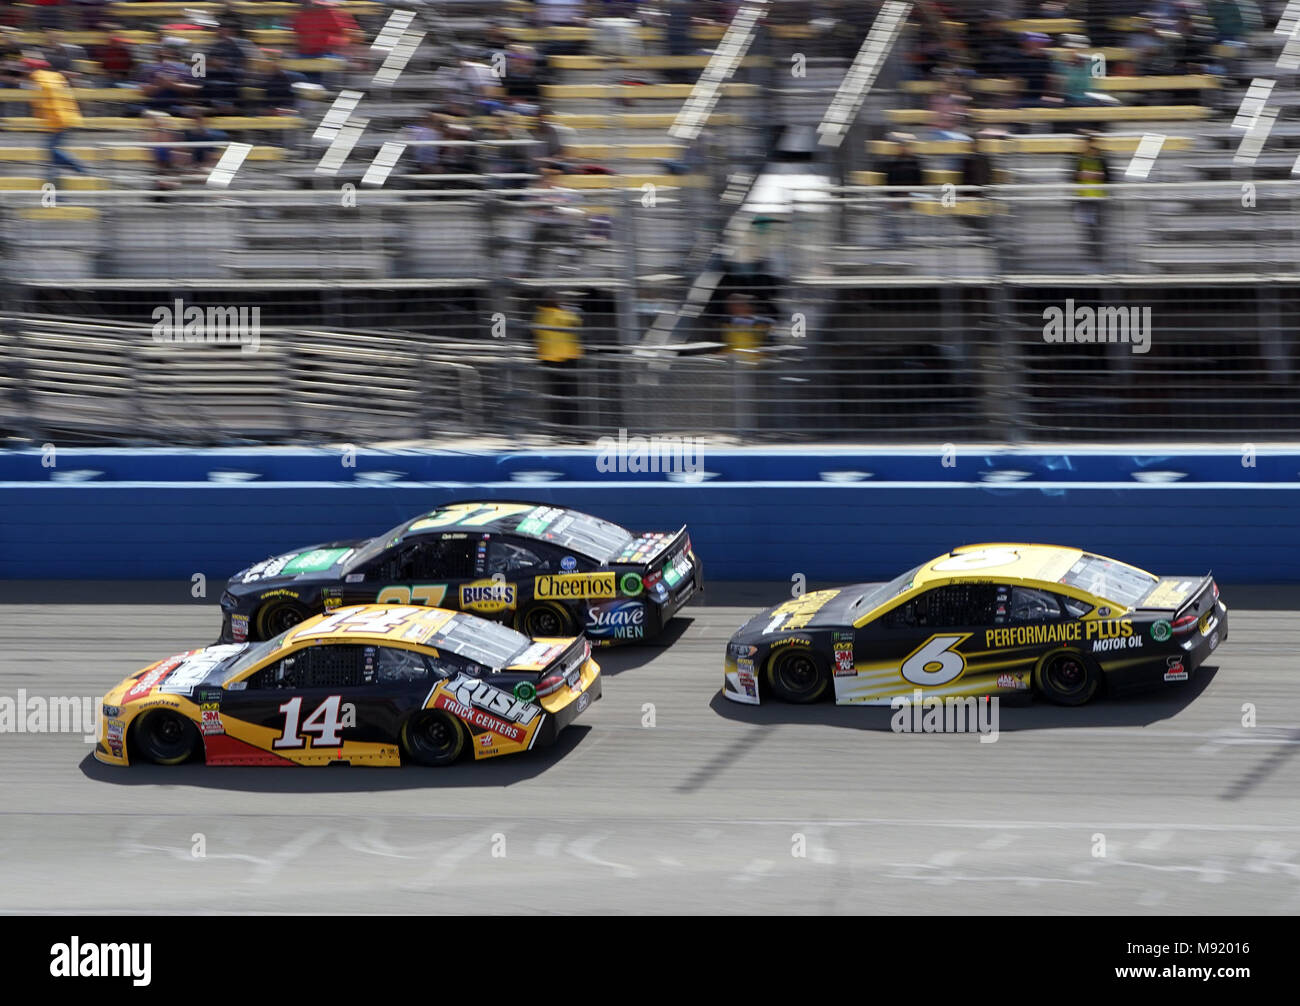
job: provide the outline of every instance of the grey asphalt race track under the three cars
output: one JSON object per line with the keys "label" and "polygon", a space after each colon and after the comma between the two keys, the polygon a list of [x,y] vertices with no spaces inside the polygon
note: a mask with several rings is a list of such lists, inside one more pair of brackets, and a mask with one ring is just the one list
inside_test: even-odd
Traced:
{"label": "grey asphalt race track under the three cars", "polygon": [[[211,641],[187,591],[4,585],[0,695],[99,695]],[[604,698],[532,755],[114,769],[81,736],[3,733],[0,910],[1300,911],[1295,587],[1226,587],[1231,637],[1190,686],[1004,703],[993,743],[725,702],[727,637],[788,586],[708,593],[671,645],[606,651]]]}

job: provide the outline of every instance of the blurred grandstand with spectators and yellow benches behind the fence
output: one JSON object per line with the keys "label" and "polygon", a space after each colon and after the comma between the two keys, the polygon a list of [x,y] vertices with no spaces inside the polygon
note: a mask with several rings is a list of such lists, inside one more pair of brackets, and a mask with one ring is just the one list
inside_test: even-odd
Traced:
{"label": "blurred grandstand with spectators and yellow benches behind the fence", "polygon": [[[1294,434],[1284,6],[8,5],[4,425]],[[827,144],[890,10],[897,39]],[[34,58],[72,87],[64,149],[86,174],[48,162]],[[549,294],[581,304],[564,421],[530,331]],[[257,307],[264,350],[151,341],[177,299]],[[1152,308],[1149,354],[1044,344],[1043,311],[1067,300]],[[182,433],[161,419],[177,403]]]}

